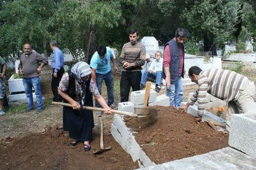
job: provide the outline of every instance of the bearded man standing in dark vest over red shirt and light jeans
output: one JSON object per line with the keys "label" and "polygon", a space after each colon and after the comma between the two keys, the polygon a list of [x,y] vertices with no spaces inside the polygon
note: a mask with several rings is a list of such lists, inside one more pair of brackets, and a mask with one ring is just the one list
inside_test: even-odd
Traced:
{"label": "bearded man standing in dark vest over red shirt and light jeans", "polygon": [[163,78],[166,81],[166,96],[170,105],[180,107],[183,99],[182,78],[184,78],[184,42],[189,33],[178,28],[175,37],[164,46]]}

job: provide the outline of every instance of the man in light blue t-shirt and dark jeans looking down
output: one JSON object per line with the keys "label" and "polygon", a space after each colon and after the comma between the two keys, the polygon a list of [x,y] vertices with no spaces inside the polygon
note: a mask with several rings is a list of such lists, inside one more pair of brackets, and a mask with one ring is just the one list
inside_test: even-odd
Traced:
{"label": "man in light blue t-shirt and dark jeans looking down", "polygon": [[[97,85],[100,94],[102,81],[104,80],[108,91],[108,106],[116,109],[116,105],[114,104],[114,79],[111,73],[110,60],[114,65],[115,71],[117,72],[118,68],[111,49],[106,46],[100,46],[92,56],[90,66],[92,67],[92,80]],[[95,106],[101,107],[96,100]],[[96,111],[96,113],[98,116],[102,115],[101,111]]]}

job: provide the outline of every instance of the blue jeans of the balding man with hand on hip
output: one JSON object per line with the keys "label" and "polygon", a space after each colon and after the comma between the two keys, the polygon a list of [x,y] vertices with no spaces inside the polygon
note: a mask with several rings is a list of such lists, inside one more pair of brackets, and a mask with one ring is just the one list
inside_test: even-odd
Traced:
{"label": "blue jeans of the balding man with hand on hip", "polygon": [[22,82],[23,82],[23,85],[25,88],[25,93],[27,96],[28,108],[29,109],[34,108],[33,95],[32,95],[32,87],[33,87],[35,90],[35,94],[36,94],[37,108],[43,109],[43,97],[42,97],[42,92],[41,92],[41,84],[40,84],[39,76],[34,77],[34,78],[23,78]]}

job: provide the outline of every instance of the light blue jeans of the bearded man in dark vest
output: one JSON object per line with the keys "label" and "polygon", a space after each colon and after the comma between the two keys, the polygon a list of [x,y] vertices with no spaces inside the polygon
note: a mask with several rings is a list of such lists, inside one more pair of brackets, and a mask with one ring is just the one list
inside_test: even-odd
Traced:
{"label": "light blue jeans of the bearded man in dark vest", "polygon": [[178,78],[176,83],[172,83],[170,88],[166,87],[166,96],[170,98],[170,105],[176,108],[180,107],[183,99],[183,87],[181,76]]}

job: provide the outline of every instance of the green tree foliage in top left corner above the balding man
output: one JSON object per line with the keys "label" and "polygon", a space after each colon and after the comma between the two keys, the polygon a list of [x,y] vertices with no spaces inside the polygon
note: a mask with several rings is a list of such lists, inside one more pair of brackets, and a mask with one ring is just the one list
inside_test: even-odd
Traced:
{"label": "green tree foliage in top left corner above the balding man", "polygon": [[30,43],[38,53],[46,53],[46,42],[50,39],[47,21],[53,8],[48,0],[8,2],[0,11],[0,51],[4,56],[18,57],[24,43]]}

